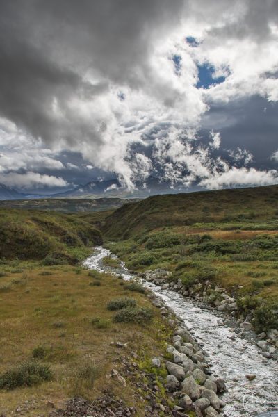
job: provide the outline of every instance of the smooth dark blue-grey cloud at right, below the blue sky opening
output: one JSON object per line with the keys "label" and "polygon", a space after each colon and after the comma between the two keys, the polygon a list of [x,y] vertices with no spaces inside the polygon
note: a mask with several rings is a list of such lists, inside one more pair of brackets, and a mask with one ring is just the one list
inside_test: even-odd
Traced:
{"label": "smooth dark blue-grey cloud at right, below the blue sky opening", "polygon": [[270,156],[278,149],[278,104],[263,97],[250,97],[227,104],[212,104],[202,119],[200,136],[208,138],[211,129],[221,131],[222,148],[248,149],[254,166],[261,169],[277,167]]}

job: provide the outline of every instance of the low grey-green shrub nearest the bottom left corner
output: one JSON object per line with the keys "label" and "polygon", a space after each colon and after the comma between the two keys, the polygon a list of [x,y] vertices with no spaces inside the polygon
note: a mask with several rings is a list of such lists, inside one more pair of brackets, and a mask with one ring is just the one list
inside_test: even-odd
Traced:
{"label": "low grey-green shrub nearest the bottom left corner", "polygon": [[10,390],[17,386],[33,386],[50,381],[52,377],[49,366],[36,361],[27,361],[0,375],[0,389]]}

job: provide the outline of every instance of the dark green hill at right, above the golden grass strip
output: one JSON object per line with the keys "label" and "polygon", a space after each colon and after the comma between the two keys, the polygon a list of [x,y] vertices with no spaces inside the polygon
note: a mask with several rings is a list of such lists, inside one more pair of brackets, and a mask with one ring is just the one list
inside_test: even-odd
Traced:
{"label": "dark green hill at right, above the golden grass strip", "polygon": [[[129,238],[158,227],[210,222],[278,221],[278,186],[155,195],[125,204],[108,216],[104,233]],[[252,226],[254,228],[254,226]]]}

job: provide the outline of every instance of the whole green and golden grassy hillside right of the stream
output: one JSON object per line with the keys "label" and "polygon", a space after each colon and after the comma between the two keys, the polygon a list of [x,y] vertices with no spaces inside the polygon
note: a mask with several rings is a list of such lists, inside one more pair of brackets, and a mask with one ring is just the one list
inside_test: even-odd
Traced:
{"label": "whole green and golden grassy hillside right of the stream", "polygon": [[150,197],[108,216],[104,236],[131,270],[209,279],[257,310],[258,330],[278,328],[277,186]]}

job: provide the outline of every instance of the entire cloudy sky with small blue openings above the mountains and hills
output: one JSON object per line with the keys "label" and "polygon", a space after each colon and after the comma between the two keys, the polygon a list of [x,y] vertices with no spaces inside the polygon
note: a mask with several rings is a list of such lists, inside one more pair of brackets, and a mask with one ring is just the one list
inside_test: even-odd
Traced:
{"label": "entire cloudy sky with small blue openings above the mountains and hills", "polygon": [[277,0],[0,0],[0,183],[278,183]]}

